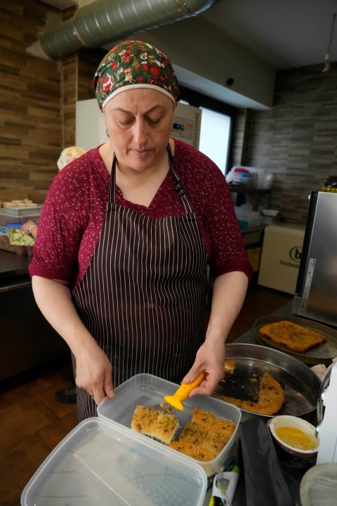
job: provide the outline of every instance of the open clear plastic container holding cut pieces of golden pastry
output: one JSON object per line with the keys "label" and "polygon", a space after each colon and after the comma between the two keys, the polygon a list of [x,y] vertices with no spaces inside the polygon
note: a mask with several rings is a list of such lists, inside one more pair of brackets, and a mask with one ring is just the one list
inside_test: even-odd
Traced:
{"label": "open clear plastic container holding cut pieces of golden pastry", "polygon": [[[164,402],[164,396],[173,395],[178,387],[179,385],[177,384],[150,374],[141,373],[135,375],[116,388],[116,396],[114,398],[105,398],[98,405],[98,417],[112,424],[121,425],[126,429],[134,430],[138,421],[144,426],[145,422],[147,423],[150,420],[145,420],[145,417],[143,417],[142,420],[142,412],[145,416],[148,415],[152,417],[154,408],[157,410],[161,407],[161,403]],[[223,403],[218,398],[208,396],[188,398],[184,401],[183,405],[184,410],[180,411],[172,408],[171,411],[171,414],[178,423],[178,427],[173,431],[174,435],[171,443],[169,443],[169,441],[171,440],[172,434],[169,434],[169,441],[166,441],[165,444],[163,444],[162,438],[160,438],[161,442],[158,442],[159,439],[157,439],[157,437],[152,439],[150,433],[145,435],[147,434],[146,431],[142,431],[140,434],[145,437],[147,441],[150,441],[150,443],[159,445],[161,451],[164,453],[178,453],[178,455],[183,458],[189,458],[193,462],[197,462],[198,465],[204,469],[204,472],[206,472],[206,476],[212,476],[223,469],[224,462],[230,456],[232,447],[237,441],[241,412],[236,406],[231,406],[230,404]],[[141,409],[138,413],[139,408]],[[138,421],[135,420],[135,415],[137,413],[140,414],[140,419]],[[202,429],[199,425],[201,420],[198,422],[201,413],[203,414]],[[204,415],[206,415],[206,413],[208,413],[208,415],[205,418]],[[164,422],[164,419],[159,419],[160,424],[161,421]],[[232,429],[229,439],[226,438],[226,442],[224,442],[224,446],[221,446],[219,452],[216,451],[213,453],[213,443],[216,443],[216,446],[218,445],[221,439],[219,434],[225,429],[225,427],[219,426],[219,422],[221,424],[224,421],[227,422],[227,428],[230,426]],[[161,427],[164,427],[164,425],[161,424]],[[205,427],[206,430],[204,430]],[[151,427],[151,432],[153,434],[153,426]],[[155,435],[162,436],[159,427]],[[191,442],[192,446],[190,446]],[[205,445],[208,446],[207,453],[209,453],[209,455],[201,455],[201,453],[199,453],[199,450],[204,452],[206,448]],[[190,447],[192,451],[186,452],[188,447]],[[214,449],[216,448],[214,447]],[[197,455],[197,453],[199,453],[199,455]]]}

